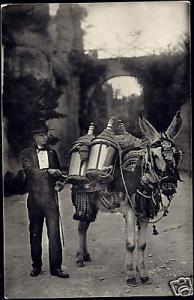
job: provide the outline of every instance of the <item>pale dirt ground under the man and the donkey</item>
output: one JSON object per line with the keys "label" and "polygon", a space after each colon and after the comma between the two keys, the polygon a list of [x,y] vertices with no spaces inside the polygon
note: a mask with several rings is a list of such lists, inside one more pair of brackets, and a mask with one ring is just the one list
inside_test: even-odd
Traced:
{"label": "pale dirt ground under the man and the donkey", "polygon": [[60,210],[65,233],[63,269],[69,279],[49,274],[46,230],[43,236],[43,274],[32,278],[26,195],[4,199],[4,269],[7,298],[130,297],[173,295],[169,280],[193,275],[192,182],[182,174],[172,200],[168,217],[157,225],[159,235],[148,228],[146,261],[151,285],[129,287],[125,281],[124,219],[119,214],[99,213],[88,231],[88,248],[92,262],[77,268],[77,221],[72,219],[74,207],[70,185],[60,193]]}

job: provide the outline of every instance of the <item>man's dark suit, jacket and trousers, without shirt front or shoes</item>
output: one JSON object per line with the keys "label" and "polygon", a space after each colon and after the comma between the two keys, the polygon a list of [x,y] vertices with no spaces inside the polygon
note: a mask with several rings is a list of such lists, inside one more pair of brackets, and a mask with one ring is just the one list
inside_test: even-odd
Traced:
{"label": "man's dark suit, jacket and trousers, without shirt front or shoes", "polygon": [[[61,169],[57,153],[47,148],[50,169]],[[42,230],[46,219],[49,239],[50,270],[61,268],[62,247],[59,228],[59,207],[54,189],[56,179],[48,169],[40,169],[36,145],[22,152],[22,166],[28,182],[28,215],[30,220],[30,244],[33,268],[42,266]]]}

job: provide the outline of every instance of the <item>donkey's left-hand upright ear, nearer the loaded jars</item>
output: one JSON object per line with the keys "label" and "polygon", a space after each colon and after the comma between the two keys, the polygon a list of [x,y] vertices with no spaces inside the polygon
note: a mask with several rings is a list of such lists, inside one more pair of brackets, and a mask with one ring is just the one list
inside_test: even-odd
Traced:
{"label": "donkey's left-hand upright ear, nearer the loaded jars", "polygon": [[160,138],[158,131],[142,115],[139,115],[139,127],[152,143]]}

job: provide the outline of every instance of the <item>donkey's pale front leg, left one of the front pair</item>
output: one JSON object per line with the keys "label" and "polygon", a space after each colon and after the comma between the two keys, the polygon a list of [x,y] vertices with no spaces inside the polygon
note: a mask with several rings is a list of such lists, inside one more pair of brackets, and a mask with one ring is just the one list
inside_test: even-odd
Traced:
{"label": "donkey's pale front leg, left one of the front pair", "polygon": [[125,218],[125,242],[126,242],[126,259],[125,273],[129,285],[136,286],[136,278],[133,269],[133,256],[135,250],[135,216],[131,208],[127,208]]}

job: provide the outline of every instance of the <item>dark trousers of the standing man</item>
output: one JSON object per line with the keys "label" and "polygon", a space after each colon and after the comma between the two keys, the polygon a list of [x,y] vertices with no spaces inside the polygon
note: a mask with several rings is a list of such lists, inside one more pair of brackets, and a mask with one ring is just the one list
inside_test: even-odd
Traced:
{"label": "dark trousers of the standing man", "polygon": [[34,200],[29,196],[27,201],[32,266],[33,268],[41,268],[42,266],[42,232],[45,219],[49,239],[50,270],[60,269],[62,264],[62,246],[59,227],[59,207],[55,201],[56,199],[53,197],[49,200]]}

